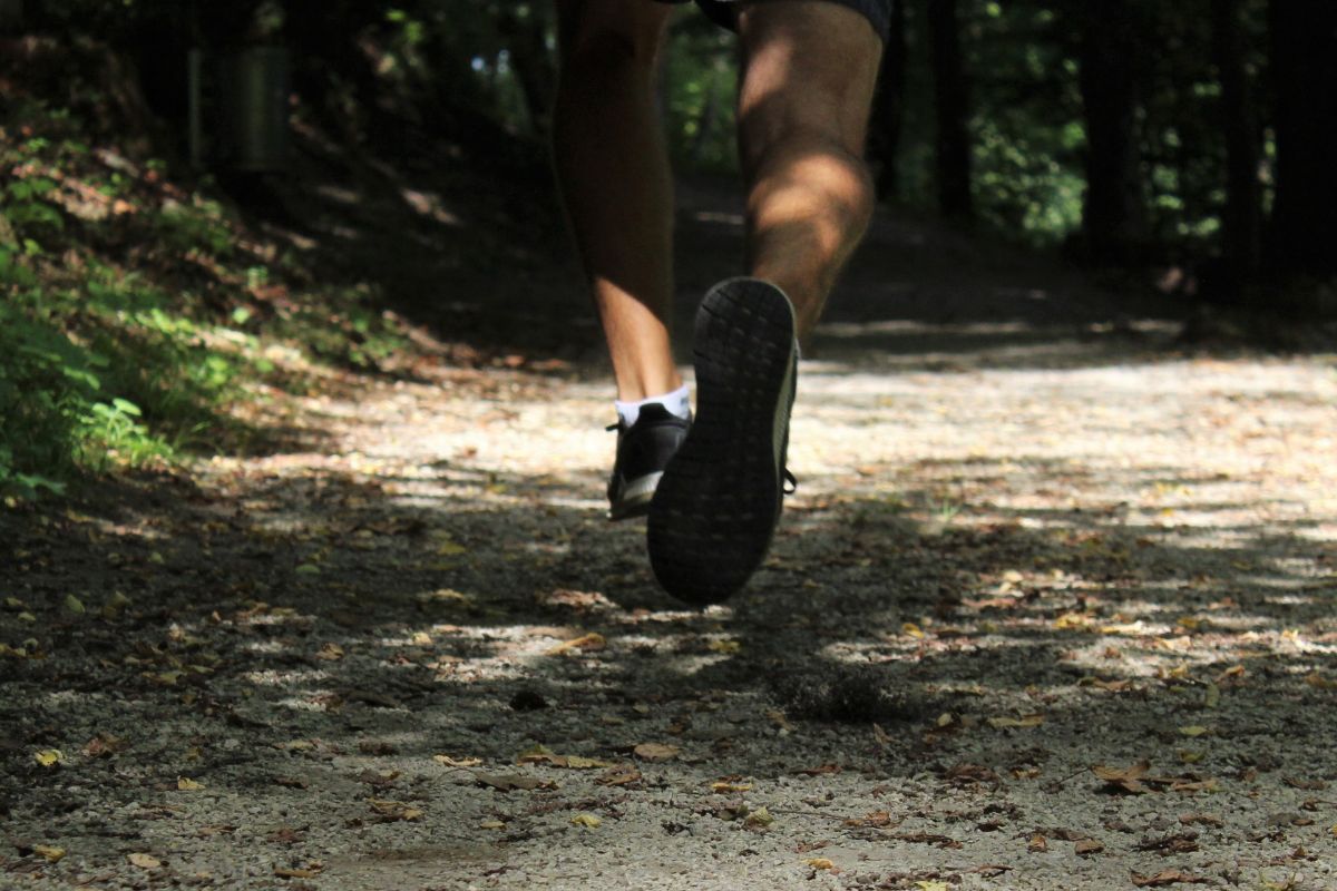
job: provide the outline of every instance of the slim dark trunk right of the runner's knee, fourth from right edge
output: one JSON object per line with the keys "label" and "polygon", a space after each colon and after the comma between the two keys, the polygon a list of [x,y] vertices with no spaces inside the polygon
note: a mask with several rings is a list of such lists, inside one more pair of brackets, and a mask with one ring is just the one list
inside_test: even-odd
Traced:
{"label": "slim dark trunk right of the runner's knee, fourth from right edge", "polygon": [[937,199],[948,219],[969,220],[971,139],[965,128],[969,98],[961,64],[956,0],[928,0],[933,99],[937,106]]}

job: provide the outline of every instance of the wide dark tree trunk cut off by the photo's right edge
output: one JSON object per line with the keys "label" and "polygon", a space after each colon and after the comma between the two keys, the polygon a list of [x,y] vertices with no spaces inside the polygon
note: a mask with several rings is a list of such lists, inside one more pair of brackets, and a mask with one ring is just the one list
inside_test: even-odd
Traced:
{"label": "wide dark tree trunk cut off by the photo's right edge", "polygon": [[1337,273],[1337,3],[1271,0],[1277,200],[1270,254],[1285,271]]}

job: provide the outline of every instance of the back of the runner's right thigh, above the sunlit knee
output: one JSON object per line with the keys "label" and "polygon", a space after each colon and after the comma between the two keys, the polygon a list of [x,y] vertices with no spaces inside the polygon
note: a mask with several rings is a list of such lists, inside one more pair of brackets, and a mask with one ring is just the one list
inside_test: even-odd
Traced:
{"label": "back of the runner's right thigh, above the sunlit knee", "polygon": [[739,138],[743,163],[794,134],[862,155],[882,40],[868,16],[829,0],[747,3]]}

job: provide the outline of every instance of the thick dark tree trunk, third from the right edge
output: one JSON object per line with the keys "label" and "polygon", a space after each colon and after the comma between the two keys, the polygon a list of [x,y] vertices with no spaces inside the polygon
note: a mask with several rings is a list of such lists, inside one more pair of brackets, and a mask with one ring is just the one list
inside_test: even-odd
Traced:
{"label": "thick dark tree trunk, third from the right edge", "polygon": [[1082,227],[1088,258],[1128,266],[1147,240],[1138,151],[1138,33],[1128,0],[1082,8],[1080,90],[1087,130]]}

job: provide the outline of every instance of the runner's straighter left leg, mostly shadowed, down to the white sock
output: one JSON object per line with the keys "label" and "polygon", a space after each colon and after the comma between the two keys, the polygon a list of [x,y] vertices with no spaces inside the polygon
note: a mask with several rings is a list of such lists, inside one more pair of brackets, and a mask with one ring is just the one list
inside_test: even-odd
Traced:
{"label": "runner's straighter left leg, mostly shadowed, down to the white sock", "polygon": [[682,386],[670,345],[673,184],[654,91],[670,12],[650,0],[558,0],[558,182],[626,402]]}

